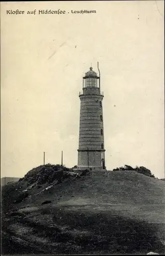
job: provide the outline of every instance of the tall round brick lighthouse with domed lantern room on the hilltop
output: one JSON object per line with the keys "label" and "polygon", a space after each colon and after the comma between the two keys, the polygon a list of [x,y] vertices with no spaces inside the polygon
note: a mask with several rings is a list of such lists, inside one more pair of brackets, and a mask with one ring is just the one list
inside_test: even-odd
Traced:
{"label": "tall round brick lighthouse with domed lantern room on the hilltop", "polygon": [[[98,63],[99,70],[99,63]],[[80,98],[80,129],[78,148],[79,170],[105,169],[103,93],[98,74],[90,67],[83,77]]]}

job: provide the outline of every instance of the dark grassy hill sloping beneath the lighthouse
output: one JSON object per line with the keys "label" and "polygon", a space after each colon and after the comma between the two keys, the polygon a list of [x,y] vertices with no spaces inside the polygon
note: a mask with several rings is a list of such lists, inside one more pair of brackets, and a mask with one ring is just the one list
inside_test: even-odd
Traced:
{"label": "dark grassy hill sloping beneath the lighthouse", "polygon": [[3,253],[163,253],[164,186],[135,171],[34,168],[3,187]]}

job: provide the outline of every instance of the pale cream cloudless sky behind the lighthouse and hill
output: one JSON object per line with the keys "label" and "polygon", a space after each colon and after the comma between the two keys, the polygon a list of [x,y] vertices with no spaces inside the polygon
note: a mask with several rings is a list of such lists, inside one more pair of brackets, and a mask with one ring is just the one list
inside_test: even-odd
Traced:
{"label": "pale cream cloudless sky behind the lighthouse and hill", "polygon": [[[50,8],[66,14],[26,14]],[[71,13],[84,9],[97,13]],[[97,61],[107,169],[164,178],[164,1],[1,2],[1,177],[23,177],[43,152],[77,165],[78,96]]]}

